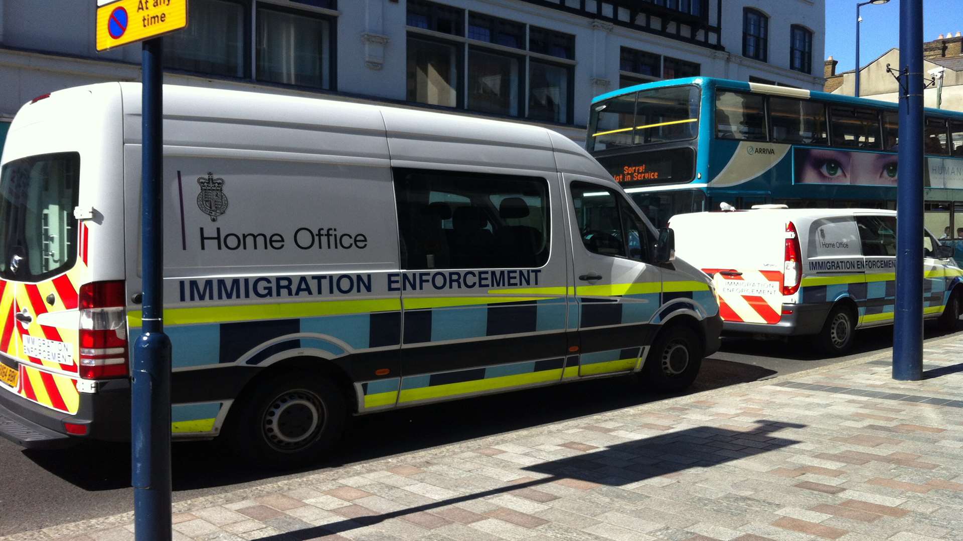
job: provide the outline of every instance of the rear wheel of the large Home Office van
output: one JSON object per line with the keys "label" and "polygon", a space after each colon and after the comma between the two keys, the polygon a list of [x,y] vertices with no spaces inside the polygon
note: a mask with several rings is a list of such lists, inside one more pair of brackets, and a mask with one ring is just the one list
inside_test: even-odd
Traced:
{"label": "rear wheel of the large Home Office van", "polygon": [[231,412],[228,440],[258,466],[290,469],[321,459],[341,439],[348,417],[334,382],[306,371],[258,381]]}

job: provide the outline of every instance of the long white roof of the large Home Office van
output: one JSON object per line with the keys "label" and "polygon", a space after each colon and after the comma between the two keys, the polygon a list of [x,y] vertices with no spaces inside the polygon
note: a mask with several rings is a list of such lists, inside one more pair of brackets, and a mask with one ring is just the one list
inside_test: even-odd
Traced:
{"label": "long white roof of the large Home Office van", "polygon": [[[117,83],[90,88],[104,85]],[[140,142],[141,84],[119,83],[119,88],[125,117],[124,140]],[[217,146],[227,138],[236,140],[234,144],[239,148],[367,158],[390,156],[392,165],[401,167],[434,162],[439,167],[559,170],[611,179],[585,148],[557,132],[522,122],[457,113],[265,92],[164,86],[164,140],[168,145]],[[187,123],[174,129],[177,120]],[[222,126],[212,125],[218,123],[234,127],[225,131]],[[255,130],[245,136],[245,130],[237,129],[240,126]],[[264,137],[264,130],[270,128],[280,129]],[[325,139],[319,132],[344,137]],[[386,137],[387,145],[375,148],[378,145],[348,142],[352,136],[365,135]],[[372,153],[374,150],[377,152]]]}

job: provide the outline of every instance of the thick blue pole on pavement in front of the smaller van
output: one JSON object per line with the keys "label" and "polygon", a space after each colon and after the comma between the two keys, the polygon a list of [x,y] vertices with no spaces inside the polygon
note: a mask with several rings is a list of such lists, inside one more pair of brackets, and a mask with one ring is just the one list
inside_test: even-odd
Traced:
{"label": "thick blue pole on pavement in front of the smaller van", "polygon": [[893,378],[923,378],[923,0],[899,3],[897,299]]}

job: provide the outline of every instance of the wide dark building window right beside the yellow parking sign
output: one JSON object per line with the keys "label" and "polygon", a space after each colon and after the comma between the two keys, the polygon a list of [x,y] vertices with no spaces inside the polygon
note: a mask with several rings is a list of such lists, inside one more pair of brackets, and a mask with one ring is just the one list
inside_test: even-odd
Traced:
{"label": "wide dark building window right beside the yellow parking sign", "polygon": [[[292,0],[334,9],[335,0]],[[164,66],[204,75],[334,88],[332,16],[268,2],[192,0],[187,29],[165,36]],[[251,42],[254,65],[251,66]]]}

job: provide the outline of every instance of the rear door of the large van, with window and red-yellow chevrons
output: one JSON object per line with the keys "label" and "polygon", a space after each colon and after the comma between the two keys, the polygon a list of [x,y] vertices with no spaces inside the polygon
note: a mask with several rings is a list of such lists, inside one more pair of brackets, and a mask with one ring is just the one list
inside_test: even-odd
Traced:
{"label": "rear door of the large van, with window and red-yellow chevrons", "polygon": [[85,236],[73,217],[80,155],[14,160],[0,173],[0,388],[76,413],[77,285]]}

